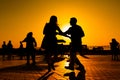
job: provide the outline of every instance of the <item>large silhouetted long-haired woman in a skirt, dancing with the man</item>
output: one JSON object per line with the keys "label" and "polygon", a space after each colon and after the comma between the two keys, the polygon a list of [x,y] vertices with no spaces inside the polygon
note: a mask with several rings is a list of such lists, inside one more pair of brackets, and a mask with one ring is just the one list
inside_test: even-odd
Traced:
{"label": "large silhouetted long-haired woman in a skirt, dancing with the man", "polygon": [[[45,49],[45,57],[48,63],[48,71],[54,68],[54,60],[57,53],[57,34],[62,34],[62,31],[57,25],[57,17],[51,16],[49,23],[46,23],[43,30],[44,38],[41,48]],[[53,60],[54,59],[54,60]]]}

